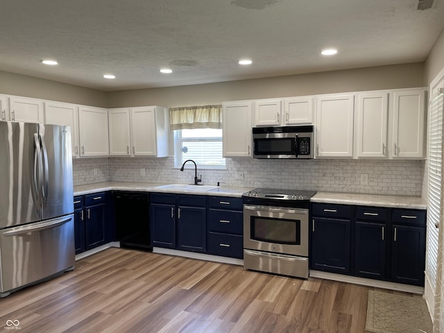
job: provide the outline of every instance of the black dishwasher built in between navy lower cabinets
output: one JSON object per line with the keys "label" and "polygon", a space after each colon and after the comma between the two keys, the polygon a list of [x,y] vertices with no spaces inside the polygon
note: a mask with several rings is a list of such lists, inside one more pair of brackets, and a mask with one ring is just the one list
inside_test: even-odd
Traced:
{"label": "black dishwasher built in between navy lower cabinets", "polygon": [[115,191],[114,207],[120,246],[152,251],[148,193]]}

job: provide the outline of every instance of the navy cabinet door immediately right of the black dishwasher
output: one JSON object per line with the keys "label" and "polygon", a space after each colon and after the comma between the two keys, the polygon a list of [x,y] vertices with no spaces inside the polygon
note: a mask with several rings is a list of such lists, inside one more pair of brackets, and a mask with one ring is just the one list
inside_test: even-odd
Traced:
{"label": "navy cabinet door immediately right of the black dishwasher", "polygon": [[176,248],[176,205],[151,203],[153,246]]}

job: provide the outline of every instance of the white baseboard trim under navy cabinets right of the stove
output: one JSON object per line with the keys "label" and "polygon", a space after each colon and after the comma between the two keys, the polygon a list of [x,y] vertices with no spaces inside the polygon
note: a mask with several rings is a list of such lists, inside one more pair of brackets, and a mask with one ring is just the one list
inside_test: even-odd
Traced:
{"label": "white baseboard trim under navy cabinets right of the stove", "polygon": [[411,286],[409,284],[372,280],[366,278],[357,278],[356,276],[342,275],[335,273],[327,273],[322,271],[310,271],[311,278],[321,278],[325,280],[334,280],[339,282],[348,282],[360,284],[368,287],[376,287],[382,289],[390,289],[396,291],[405,291],[407,293],[418,293],[424,295],[424,287]]}

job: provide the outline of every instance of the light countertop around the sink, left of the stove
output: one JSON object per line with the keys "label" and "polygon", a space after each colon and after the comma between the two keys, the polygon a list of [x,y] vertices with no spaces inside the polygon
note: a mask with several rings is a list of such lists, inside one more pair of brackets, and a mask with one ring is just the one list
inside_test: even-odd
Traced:
{"label": "light countertop around the sink, left of the stove", "polygon": [[186,189],[156,189],[155,187],[165,184],[153,184],[144,182],[96,182],[88,185],[74,186],[74,196],[81,196],[83,194],[92,194],[101,191],[145,191],[145,192],[160,192],[160,193],[177,193],[177,194],[199,194],[206,196],[232,196],[241,198],[242,194],[250,189],[247,188],[231,188],[231,187],[216,187],[208,191],[196,191]]}

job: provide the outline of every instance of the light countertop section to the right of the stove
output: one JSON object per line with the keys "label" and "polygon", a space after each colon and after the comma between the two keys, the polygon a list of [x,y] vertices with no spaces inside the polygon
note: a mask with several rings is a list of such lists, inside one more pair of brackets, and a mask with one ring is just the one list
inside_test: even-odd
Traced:
{"label": "light countertop section to the right of the stove", "polygon": [[318,192],[311,197],[311,202],[407,208],[411,210],[427,209],[427,202],[418,196],[383,196],[377,194]]}

